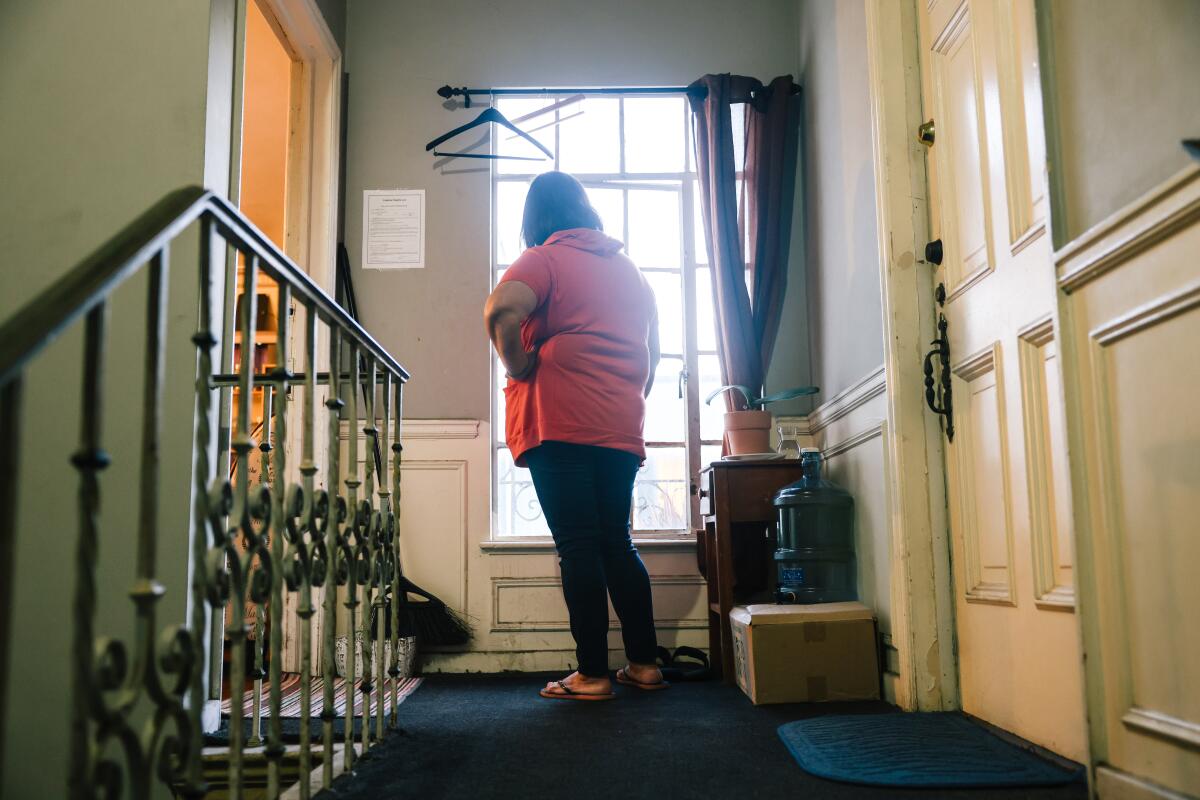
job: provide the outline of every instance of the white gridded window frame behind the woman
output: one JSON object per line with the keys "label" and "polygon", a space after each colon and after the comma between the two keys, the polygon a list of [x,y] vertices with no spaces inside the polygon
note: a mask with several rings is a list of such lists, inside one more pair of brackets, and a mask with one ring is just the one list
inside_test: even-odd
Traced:
{"label": "white gridded window frame behind the woman", "polygon": [[[522,98],[542,100],[546,106],[558,103],[566,100],[569,94],[530,94],[528,96],[522,96]],[[664,96],[664,95],[660,95]],[[646,98],[646,95],[637,94],[612,94],[605,95],[606,98],[617,98],[618,102],[618,137],[619,137],[619,172],[617,173],[572,173],[576,179],[586,188],[612,188],[622,191],[622,206],[623,206],[623,233],[624,239],[629,237],[629,193],[630,191],[644,191],[644,190],[658,190],[677,193],[679,197],[679,236],[682,239],[680,247],[680,261],[678,269],[676,267],[641,267],[646,273],[671,273],[678,275],[680,277],[680,290],[682,296],[682,311],[683,311],[683,353],[662,353],[662,359],[677,359],[682,361],[682,371],[679,373],[679,386],[683,390],[684,396],[684,408],[686,413],[686,420],[684,426],[684,437],[682,441],[656,441],[647,440],[647,450],[653,449],[678,449],[683,447],[685,453],[686,463],[686,475],[684,477],[684,491],[686,492],[686,519],[685,527],[672,528],[672,529],[640,529],[636,528],[636,489],[635,489],[635,507],[631,509],[631,533],[635,539],[642,541],[678,541],[686,540],[690,541],[692,537],[692,530],[700,527],[700,498],[698,498],[698,486],[700,486],[700,470],[702,450],[707,447],[719,447],[721,445],[721,439],[702,439],[701,438],[701,410],[700,410],[700,359],[701,357],[718,357],[715,349],[700,350],[698,349],[698,326],[696,324],[697,314],[697,270],[712,269],[708,264],[708,254],[696,253],[697,234],[703,235],[702,231],[696,230],[696,203],[697,203],[697,174],[695,167],[695,152],[694,152],[694,134],[692,134],[692,114],[686,102],[686,95],[679,94],[667,94],[667,97],[679,97],[684,102],[682,103],[682,113],[684,115],[683,125],[683,152],[684,152],[684,164],[683,172],[662,172],[662,173],[629,173],[626,172],[626,144],[625,144],[625,101],[630,98]],[[586,102],[586,101],[584,101]],[[553,166],[551,169],[559,168],[560,158],[560,124],[569,119],[572,113],[570,107],[566,108],[566,114],[564,114],[563,108],[556,108],[553,110],[554,121],[548,122],[548,116],[546,121],[538,121],[533,125],[534,130],[545,130],[552,127],[554,132],[553,138]],[[497,130],[493,128],[493,136],[491,139],[491,152],[496,152],[497,144]],[[498,188],[500,184],[528,184],[534,178],[540,175],[542,170],[538,172],[500,172],[498,169],[499,164],[504,162],[492,161],[488,175],[490,182],[490,267],[488,267],[488,289],[494,289],[499,276],[505,269],[508,269],[509,263],[500,264],[499,259],[499,246],[498,246],[498,231],[497,231],[497,211],[498,211]],[[521,163],[521,162],[514,162]],[[545,162],[539,162],[545,166]],[[742,173],[737,174],[740,182]],[[709,272],[712,275],[712,272]],[[544,543],[550,541],[548,535],[518,535],[508,534],[502,529],[500,519],[500,452],[508,450],[508,445],[504,441],[504,419],[502,413],[502,398],[503,392],[500,391],[502,384],[499,383],[503,375],[503,369],[499,363],[499,359],[491,353],[491,375],[490,375],[490,416],[492,417],[492,429],[493,434],[490,443],[490,457],[491,457],[491,531],[490,541],[503,542],[503,543]],[[695,378],[694,378],[695,377]],[[532,491],[532,488],[529,489]]]}

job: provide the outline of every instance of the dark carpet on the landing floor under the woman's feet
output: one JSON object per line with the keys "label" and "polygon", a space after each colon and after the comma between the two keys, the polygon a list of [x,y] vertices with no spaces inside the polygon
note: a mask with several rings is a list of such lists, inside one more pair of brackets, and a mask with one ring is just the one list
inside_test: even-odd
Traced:
{"label": "dark carpet on the landing floor under the woman's feet", "polygon": [[[557,676],[557,675],[556,675]],[[548,700],[545,678],[427,678],[400,709],[401,732],[319,794],[421,800],[1067,800],[1082,783],[1038,789],[910,790],[834,783],[804,772],[775,729],[822,714],[878,714],[883,703],[755,708],[719,681],[665,692],[617,687],[606,703]]]}

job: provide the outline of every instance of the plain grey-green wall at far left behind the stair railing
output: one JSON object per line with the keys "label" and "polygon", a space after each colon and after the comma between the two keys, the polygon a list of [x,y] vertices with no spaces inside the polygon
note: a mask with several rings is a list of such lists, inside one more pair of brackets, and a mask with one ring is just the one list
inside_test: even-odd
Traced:
{"label": "plain grey-green wall at far left behind the stair railing", "polygon": [[[228,2],[122,0],[0,5],[0,319],[73,267],[172,190],[228,180],[205,161],[228,150],[228,115],[210,120],[211,97],[228,98],[228,83],[210,86],[210,67],[230,74],[232,47],[210,37],[210,23],[230,20]],[[211,16],[210,16],[211,14]],[[232,31],[230,38],[232,42]],[[223,60],[210,60],[212,54]],[[226,120],[223,128],[220,122]],[[214,130],[209,124],[215,122]],[[158,565],[167,595],[154,636],[184,621],[191,485],[196,349],[194,237],[174,248],[175,281],[168,318],[162,443],[162,506],[155,519]],[[191,281],[188,279],[191,278]],[[72,621],[96,613],[98,634],[132,644],[140,431],[144,278],[134,279],[109,314],[103,445],[113,465],[101,477],[100,570],[96,602],[76,599],[77,476],[82,336],[71,332],[29,371],[22,421],[16,566],[11,577],[12,642],[5,691],[4,796],[64,796],[70,720]],[[10,476],[5,476],[8,480]],[[5,579],[10,579],[5,576]],[[74,603],[74,604],[73,604]],[[80,610],[76,610],[79,608]],[[145,698],[140,708],[144,711]],[[140,724],[142,714],[134,716]],[[109,748],[110,756],[120,758]]]}

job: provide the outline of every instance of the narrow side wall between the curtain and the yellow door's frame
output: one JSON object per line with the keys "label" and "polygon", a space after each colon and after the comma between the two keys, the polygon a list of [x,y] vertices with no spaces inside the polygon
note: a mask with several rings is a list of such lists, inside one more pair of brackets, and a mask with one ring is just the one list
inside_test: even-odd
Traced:
{"label": "narrow side wall between the curtain and the yellow door's frame", "polygon": [[[866,16],[862,2],[799,0],[798,59],[812,383],[808,416],[827,476],[854,495],[859,596],[890,642],[887,417]],[[895,652],[884,688],[895,698]]]}

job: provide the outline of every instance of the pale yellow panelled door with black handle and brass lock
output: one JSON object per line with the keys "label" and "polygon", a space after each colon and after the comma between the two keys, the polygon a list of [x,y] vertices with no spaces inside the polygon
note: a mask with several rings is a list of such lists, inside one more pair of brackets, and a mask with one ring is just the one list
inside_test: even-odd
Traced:
{"label": "pale yellow panelled door with black handle and brass lock", "polygon": [[1082,762],[1033,2],[917,5],[953,375],[946,482],[962,708]]}

